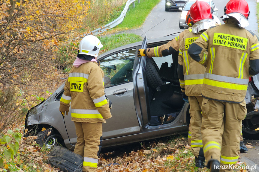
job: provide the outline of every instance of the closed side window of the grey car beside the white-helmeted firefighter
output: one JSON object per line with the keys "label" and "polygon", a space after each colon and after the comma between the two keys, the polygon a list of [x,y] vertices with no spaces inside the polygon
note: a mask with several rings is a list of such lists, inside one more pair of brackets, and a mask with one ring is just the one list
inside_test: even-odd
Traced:
{"label": "closed side window of the grey car beside the white-helmeted firefighter", "polygon": [[100,61],[100,67],[104,71],[105,88],[132,81],[136,50],[119,52]]}

